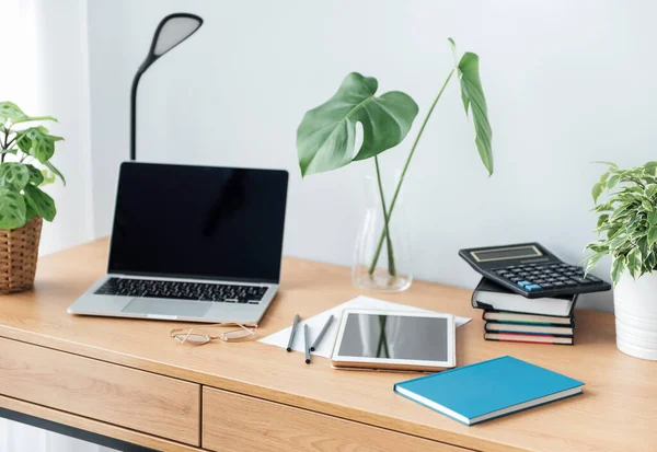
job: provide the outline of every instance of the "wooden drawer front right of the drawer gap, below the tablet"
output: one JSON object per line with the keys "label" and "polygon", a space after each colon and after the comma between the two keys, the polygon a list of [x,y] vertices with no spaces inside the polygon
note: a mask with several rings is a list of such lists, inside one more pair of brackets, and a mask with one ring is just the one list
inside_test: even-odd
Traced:
{"label": "wooden drawer front right of the drawer gap, below the tablet", "polygon": [[203,448],[211,451],[433,451],[465,449],[207,386]]}

